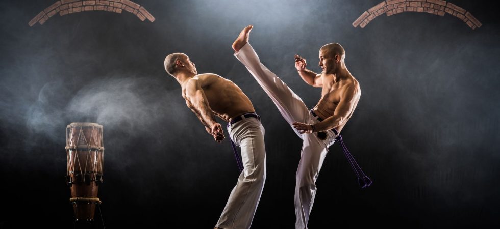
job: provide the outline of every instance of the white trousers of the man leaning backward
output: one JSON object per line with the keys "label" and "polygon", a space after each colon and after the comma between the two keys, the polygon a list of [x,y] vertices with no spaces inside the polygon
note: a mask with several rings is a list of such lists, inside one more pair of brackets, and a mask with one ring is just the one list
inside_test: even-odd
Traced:
{"label": "white trousers of the man leaning backward", "polygon": [[216,226],[224,229],[248,229],[252,225],[266,180],[265,130],[258,119],[243,117],[243,120],[229,125],[228,132],[241,148],[243,171]]}

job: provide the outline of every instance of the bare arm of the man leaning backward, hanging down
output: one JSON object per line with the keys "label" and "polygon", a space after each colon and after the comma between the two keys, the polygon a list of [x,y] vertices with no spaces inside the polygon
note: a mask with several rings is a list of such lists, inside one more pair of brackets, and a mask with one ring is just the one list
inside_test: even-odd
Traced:
{"label": "bare arm of the man leaning backward, hanging down", "polygon": [[196,114],[199,121],[205,125],[207,132],[209,132],[217,142],[221,142],[224,139],[222,126],[215,121],[215,115],[197,79],[190,79],[187,82],[186,99],[191,102],[192,106],[189,106],[187,101],[186,104],[188,104],[188,107]]}

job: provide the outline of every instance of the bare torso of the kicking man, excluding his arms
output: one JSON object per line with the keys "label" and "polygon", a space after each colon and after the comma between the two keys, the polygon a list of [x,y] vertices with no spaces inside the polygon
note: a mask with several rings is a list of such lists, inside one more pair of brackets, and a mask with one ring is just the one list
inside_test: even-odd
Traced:
{"label": "bare torso of the kicking man, excluding his arms", "polygon": [[356,80],[351,74],[349,74],[345,79],[334,82],[334,76],[331,75],[321,75],[322,81],[322,91],[321,98],[319,99],[318,104],[313,108],[314,112],[321,117],[322,119],[326,119],[330,116],[333,116],[335,112],[338,110],[337,106],[340,102],[343,95],[346,94],[347,91],[351,93],[352,91],[356,91],[356,95],[352,99],[352,109],[349,112],[347,118],[344,122],[342,122],[338,128],[336,128],[339,132],[344,128],[344,125],[353,115],[356,106],[358,105],[358,101],[361,94],[361,89],[359,87],[359,82]]}

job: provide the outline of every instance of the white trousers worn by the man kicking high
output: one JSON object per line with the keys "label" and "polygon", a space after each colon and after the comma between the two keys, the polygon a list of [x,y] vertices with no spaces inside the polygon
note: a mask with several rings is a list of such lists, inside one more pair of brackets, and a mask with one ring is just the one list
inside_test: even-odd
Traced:
{"label": "white trousers worn by the man kicking high", "polygon": [[327,155],[328,147],[335,142],[338,135],[333,131],[326,131],[326,139],[321,140],[318,138],[317,133],[301,134],[297,129],[293,128],[293,122],[312,124],[317,123],[318,120],[310,113],[302,99],[288,88],[286,83],[260,63],[259,56],[257,56],[250,43],[247,43],[234,55],[245,65],[262,89],[276,104],[281,115],[290,124],[293,131],[304,140],[301,161],[298,163],[295,175],[295,228],[307,228],[309,214],[316,195],[315,182],[324,157]]}

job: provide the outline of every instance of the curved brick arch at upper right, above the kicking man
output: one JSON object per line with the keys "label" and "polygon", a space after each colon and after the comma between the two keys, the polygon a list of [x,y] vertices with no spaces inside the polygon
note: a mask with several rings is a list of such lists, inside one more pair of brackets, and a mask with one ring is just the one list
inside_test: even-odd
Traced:
{"label": "curved brick arch at upper right, above the kicking man", "polygon": [[444,0],[386,0],[365,11],[353,22],[353,26],[358,25],[364,28],[376,17],[386,14],[391,16],[403,12],[427,12],[444,16],[445,13],[458,17],[465,22],[472,30],[481,27],[481,22],[470,12],[463,8]]}

